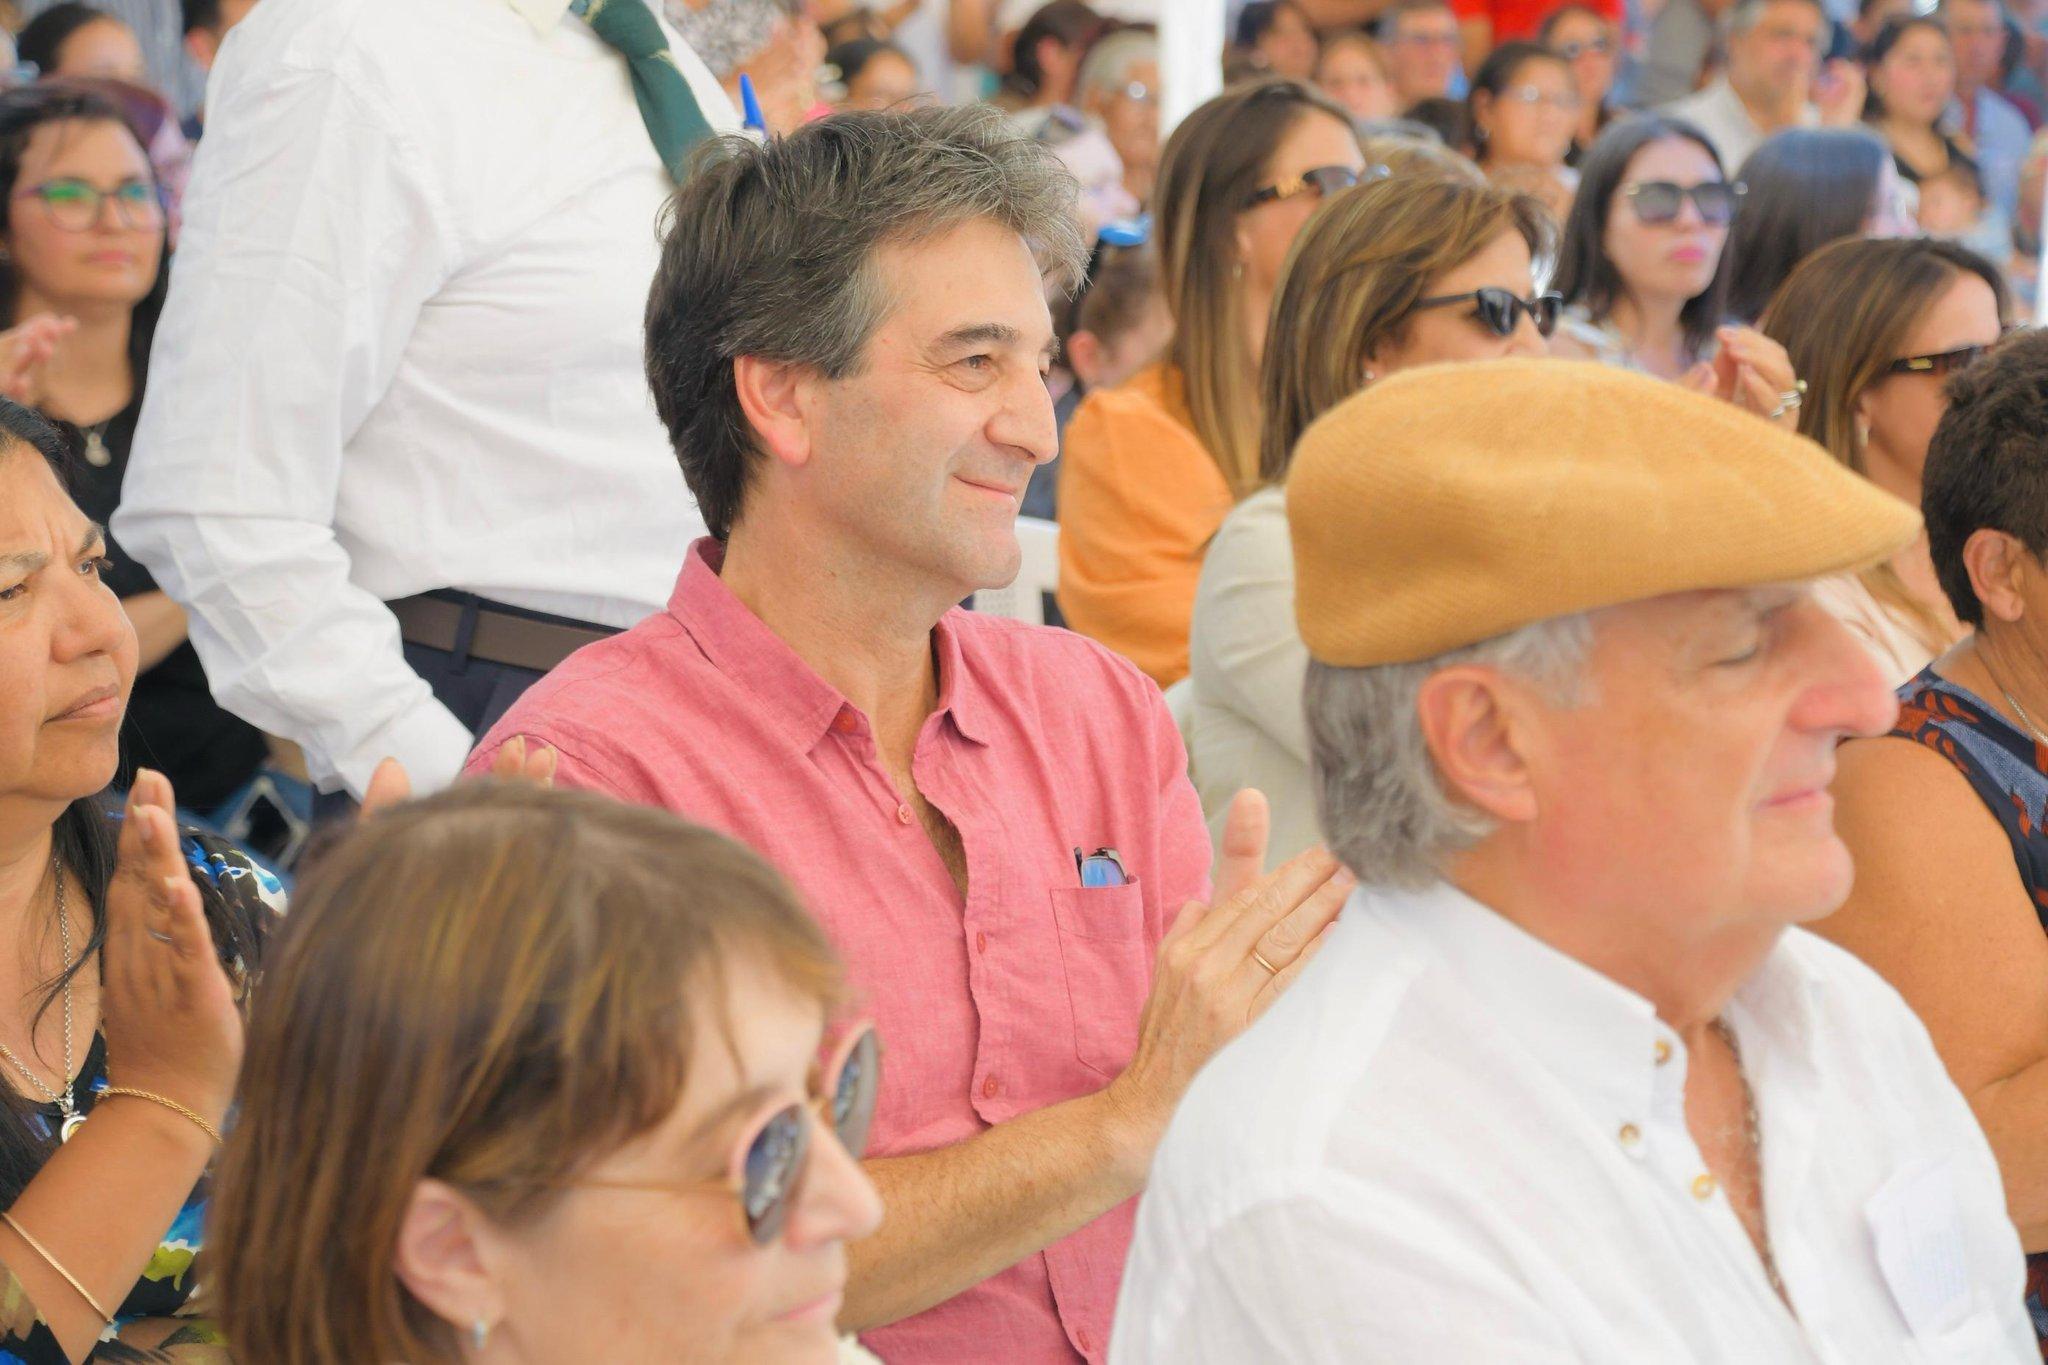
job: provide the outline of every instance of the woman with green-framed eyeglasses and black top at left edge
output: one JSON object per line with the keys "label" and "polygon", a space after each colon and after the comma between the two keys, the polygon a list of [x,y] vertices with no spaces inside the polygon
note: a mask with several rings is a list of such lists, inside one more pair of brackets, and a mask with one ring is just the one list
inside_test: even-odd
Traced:
{"label": "woman with green-framed eyeglasses and black top at left edge", "polygon": [[[0,94],[0,293],[10,397],[84,432],[72,493],[106,526],[121,503],[150,342],[168,280],[164,207],[150,158],[102,94],[66,84]],[[109,542],[109,585],[141,643],[123,733],[129,769],[164,772],[188,810],[215,812],[262,767],[268,743],[213,702],[184,612]]]}

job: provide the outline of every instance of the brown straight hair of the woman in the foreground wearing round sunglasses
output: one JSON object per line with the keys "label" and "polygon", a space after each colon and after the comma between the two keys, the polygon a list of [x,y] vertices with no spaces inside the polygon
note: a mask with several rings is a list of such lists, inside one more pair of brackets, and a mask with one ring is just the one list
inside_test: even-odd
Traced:
{"label": "brown straight hair of the woman in the foreground wearing round sunglasses", "polygon": [[760,857],[518,784],[367,819],[272,954],[207,1228],[209,1310],[250,1365],[459,1359],[393,1269],[422,1179],[504,1224],[539,1214],[674,1111],[694,1046],[731,1046],[733,962],[840,1003],[831,950]]}

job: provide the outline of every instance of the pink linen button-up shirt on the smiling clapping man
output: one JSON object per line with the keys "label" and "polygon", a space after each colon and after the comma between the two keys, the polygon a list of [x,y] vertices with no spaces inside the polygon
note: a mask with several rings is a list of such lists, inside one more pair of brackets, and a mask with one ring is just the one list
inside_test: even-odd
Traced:
{"label": "pink linen button-up shirt on the smiling clapping man", "polygon": [[[967,851],[958,894],[868,718],[690,548],[668,610],[580,649],[469,759],[514,735],[557,782],[666,806],[768,857],[848,964],[885,1048],[872,1156],[965,1142],[1100,1091],[1130,1060],[1153,950],[1208,898],[1208,831],[1159,690],[1065,630],[946,612],[918,790]],[[1083,888],[1075,849],[1124,886]],[[866,1332],[891,1365],[1100,1365],[1133,1203],[924,1314]]]}

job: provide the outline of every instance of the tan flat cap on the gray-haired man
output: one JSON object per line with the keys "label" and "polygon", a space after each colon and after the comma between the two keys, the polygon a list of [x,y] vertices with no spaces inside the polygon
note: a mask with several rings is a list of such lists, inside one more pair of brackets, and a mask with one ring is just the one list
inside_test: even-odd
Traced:
{"label": "tan flat cap on the gray-haired man", "polygon": [[1864,569],[1919,534],[1919,512],[1815,442],[1571,360],[1374,383],[1303,434],[1286,510],[1300,636],[1339,667],[1673,591]]}

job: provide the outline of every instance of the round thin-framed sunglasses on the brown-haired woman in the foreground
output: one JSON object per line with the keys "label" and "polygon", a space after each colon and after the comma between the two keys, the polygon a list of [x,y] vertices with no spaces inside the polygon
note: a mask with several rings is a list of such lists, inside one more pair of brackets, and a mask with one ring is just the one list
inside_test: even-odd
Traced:
{"label": "round thin-framed sunglasses on the brown-haired woman in the foreground", "polygon": [[791,1205],[811,1171],[811,1121],[829,1124],[856,1160],[868,1150],[874,1099],[883,1083],[883,1050],[872,1025],[848,1033],[819,1070],[813,1099],[782,1105],[745,1128],[731,1171],[717,1181],[565,1181],[575,1189],[686,1191],[723,1187],[739,1195],[739,1214],[756,1246],[782,1236]]}

